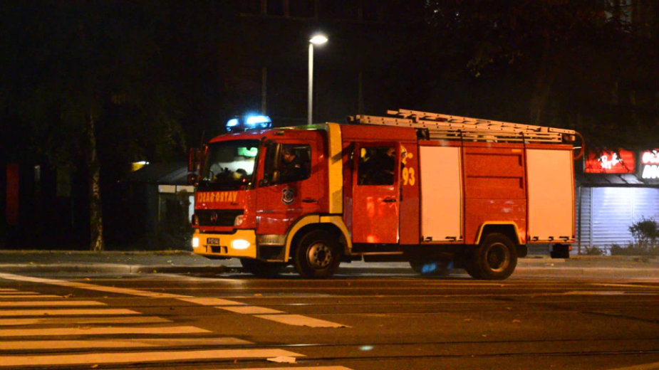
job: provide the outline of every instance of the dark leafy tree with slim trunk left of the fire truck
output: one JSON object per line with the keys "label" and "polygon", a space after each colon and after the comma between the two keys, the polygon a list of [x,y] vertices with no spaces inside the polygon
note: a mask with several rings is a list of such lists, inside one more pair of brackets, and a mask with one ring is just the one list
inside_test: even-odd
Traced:
{"label": "dark leafy tree with slim trunk left of the fire truck", "polygon": [[3,73],[6,109],[28,127],[31,152],[58,169],[83,165],[90,248],[103,250],[102,175],[116,180],[130,162],[185,146],[157,43],[158,8],[45,1],[3,11],[14,51]]}

